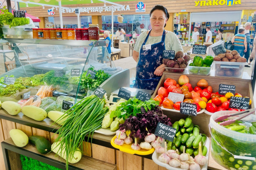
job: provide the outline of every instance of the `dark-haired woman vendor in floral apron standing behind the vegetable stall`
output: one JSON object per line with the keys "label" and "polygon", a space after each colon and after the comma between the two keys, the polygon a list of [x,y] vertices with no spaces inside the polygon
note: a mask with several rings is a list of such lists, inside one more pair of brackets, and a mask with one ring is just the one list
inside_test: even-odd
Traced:
{"label": "dark-haired woman vendor in floral apron standing behind the vegetable stall", "polygon": [[133,50],[137,62],[134,88],[155,90],[165,70],[162,54],[164,50],[183,51],[175,33],[164,30],[169,19],[167,9],[156,5],[150,11],[151,30],[140,34]]}

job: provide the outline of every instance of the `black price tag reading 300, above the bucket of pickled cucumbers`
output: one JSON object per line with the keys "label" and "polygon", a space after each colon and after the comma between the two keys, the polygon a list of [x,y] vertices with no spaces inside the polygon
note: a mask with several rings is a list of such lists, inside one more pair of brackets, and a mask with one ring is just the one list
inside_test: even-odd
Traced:
{"label": "black price tag reading 300, above the bucket of pickled cucumbers", "polygon": [[229,101],[229,108],[235,109],[249,109],[250,98],[231,96]]}

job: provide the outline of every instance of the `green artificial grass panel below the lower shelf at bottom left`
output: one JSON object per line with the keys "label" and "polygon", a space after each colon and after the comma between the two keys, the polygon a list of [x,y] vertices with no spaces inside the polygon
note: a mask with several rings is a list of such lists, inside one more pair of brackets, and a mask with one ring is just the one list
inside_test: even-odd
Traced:
{"label": "green artificial grass panel below the lower shelf at bottom left", "polygon": [[22,170],[61,170],[38,160],[20,155]]}

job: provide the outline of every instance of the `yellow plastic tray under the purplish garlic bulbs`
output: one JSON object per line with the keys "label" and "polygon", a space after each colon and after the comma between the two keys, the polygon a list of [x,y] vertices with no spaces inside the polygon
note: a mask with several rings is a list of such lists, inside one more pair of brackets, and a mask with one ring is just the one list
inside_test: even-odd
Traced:
{"label": "yellow plastic tray under the purplish garlic bulbs", "polygon": [[111,145],[113,147],[115,147],[116,149],[119,149],[122,152],[130,153],[130,154],[137,154],[137,155],[149,155],[155,151],[154,147],[152,147],[152,149],[150,149],[150,150],[141,149],[140,151],[134,151],[131,148],[133,143],[123,144],[122,146],[119,146],[119,145],[115,144],[115,142],[114,142],[115,139],[116,139],[116,135],[111,139]]}

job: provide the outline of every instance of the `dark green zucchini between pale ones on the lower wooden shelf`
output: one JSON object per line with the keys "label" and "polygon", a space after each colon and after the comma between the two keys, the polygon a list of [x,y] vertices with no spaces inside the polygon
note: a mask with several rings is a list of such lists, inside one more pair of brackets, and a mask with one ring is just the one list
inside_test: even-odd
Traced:
{"label": "dark green zucchini between pale ones on the lower wooden shelf", "polygon": [[51,144],[44,137],[30,136],[28,137],[28,142],[31,144],[35,144],[37,151],[42,154],[45,154],[51,151]]}

